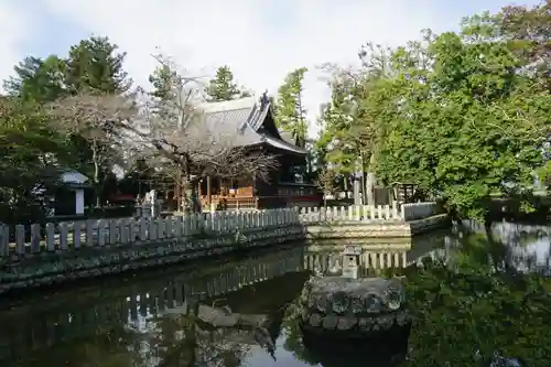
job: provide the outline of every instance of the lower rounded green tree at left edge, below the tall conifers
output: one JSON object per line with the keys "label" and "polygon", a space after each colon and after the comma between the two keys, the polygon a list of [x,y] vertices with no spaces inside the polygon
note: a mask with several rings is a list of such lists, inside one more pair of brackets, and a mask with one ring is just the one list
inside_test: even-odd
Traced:
{"label": "lower rounded green tree at left edge, below the tall conifers", "polygon": [[63,137],[50,129],[40,107],[0,100],[0,222],[40,220],[66,161]]}

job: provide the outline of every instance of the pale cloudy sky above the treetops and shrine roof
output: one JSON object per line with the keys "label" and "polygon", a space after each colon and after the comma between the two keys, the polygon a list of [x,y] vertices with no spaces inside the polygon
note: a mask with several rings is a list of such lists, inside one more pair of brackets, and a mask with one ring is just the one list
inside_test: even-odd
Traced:
{"label": "pale cloudy sky above the treetops and shrine roof", "polygon": [[[539,1],[525,0],[522,4]],[[465,15],[497,11],[504,0],[0,0],[0,79],[28,55],[65,56],[90,35],[128,53],[126,69],[147,87],[161,51],[193,75],[228,65],[257,94],[277,93],[285,75],[307,67],[304,102],[315,133],[328,88],[318,66],[357,60],[367,41],[396,46],[420,30],[458,29]]]}

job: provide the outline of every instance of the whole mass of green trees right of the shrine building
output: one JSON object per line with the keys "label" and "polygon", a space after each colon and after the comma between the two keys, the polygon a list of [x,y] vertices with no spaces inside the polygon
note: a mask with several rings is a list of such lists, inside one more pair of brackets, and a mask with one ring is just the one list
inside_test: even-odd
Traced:
{"label": "whole mass of green trees right of the shrine building", "polygon": [[327,160],[412,183],[464,216],[483,216],[493,194],[530,195],[547,174],[549,7],[475,15],[396,50],[368,44],[359,71],[332,79]]}

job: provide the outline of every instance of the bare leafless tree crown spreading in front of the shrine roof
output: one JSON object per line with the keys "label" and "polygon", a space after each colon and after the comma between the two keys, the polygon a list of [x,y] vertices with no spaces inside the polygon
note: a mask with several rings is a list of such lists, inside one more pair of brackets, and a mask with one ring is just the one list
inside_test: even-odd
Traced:
{"label": "bare leafless tree crown spreading in front of the shrine roof", "polygon": [[[220,132],[198,106],[199,77],[182,77],[169,67],[171,94],[154,98],[138,90],[130,96],[79,95],[52,106],[52,114],[67,131],[116,144],[128,162],[144,160],[169,176],[184,180],[205,175],[269,180],[277,159],[240,143],[239,131]],[[220,122],[220,121],[218,121]]]}

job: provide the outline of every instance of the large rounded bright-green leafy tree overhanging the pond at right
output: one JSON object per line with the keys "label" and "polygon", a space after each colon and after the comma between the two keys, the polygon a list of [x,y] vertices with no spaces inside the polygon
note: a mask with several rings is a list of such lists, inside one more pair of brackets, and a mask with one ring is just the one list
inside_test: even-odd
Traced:
{"label": "large rounded bright-green leafy tree overhanging the pond at right", "polygon": [[371,84],[363,108],[377,131],[379,177],[483,217],[491,194],[530,193],[551,99],[508,42],[469,33],[396,50],[392,73]]}

